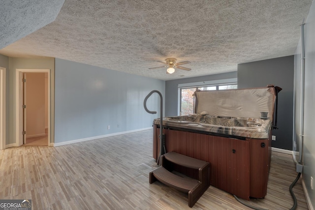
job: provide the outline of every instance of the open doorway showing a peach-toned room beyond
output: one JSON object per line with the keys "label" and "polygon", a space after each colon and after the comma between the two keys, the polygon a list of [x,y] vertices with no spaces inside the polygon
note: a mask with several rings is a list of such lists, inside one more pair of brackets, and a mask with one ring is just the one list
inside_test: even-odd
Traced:
{"label": "open doorway showing a peach-toned room beyond", "polygon": [[17,146],[50,146],[50,69],[16,69]]}

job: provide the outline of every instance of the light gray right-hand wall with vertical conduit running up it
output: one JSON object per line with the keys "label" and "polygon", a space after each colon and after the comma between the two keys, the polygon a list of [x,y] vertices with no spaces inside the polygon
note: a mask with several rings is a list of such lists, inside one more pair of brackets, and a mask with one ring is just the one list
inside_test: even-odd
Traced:
{"label": "light gray right-hand wall with vertical conduit running up it", "polygon": [[[306,190],[304,190],[315,209],[315,190],[311,189],[311,177],[315,178],[315,1],[309,11],[309,15],[305,21],[305,85],[304,85],[304,129],[303,129],[303,181]],[[300,133],[300,73],[301,73],[301,40],[296,49],[295,69],[294,69],[294,141],[299,145]],[[298,159],[298,157],[296,157]]]}

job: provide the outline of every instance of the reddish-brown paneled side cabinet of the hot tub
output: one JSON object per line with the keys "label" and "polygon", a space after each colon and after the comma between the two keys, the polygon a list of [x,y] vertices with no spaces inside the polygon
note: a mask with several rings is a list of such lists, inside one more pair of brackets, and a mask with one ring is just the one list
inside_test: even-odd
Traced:
{"label": "reddish-brown paneled side cabinet of the hot tub", "polygon": [[[176,128],[163,128],[167,152],[175,151],[210,162],[210,184],[240,198],[263,198],[271,161],[271,132],[268,139],[237,139]],[[159,154],[159,126],[153,124],[153,157]],[[187,168],[176,171],[197,179]]]}

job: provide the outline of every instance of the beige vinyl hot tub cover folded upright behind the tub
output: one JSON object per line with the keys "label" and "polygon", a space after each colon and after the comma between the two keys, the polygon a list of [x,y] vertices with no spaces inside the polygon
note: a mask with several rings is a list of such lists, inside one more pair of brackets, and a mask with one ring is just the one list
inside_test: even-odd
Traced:
{"label": "beige vinyl hot tub cover folded upright behind the tub", "polygon": [[279,87],[268,85],[265,88],[200,90],[195,91],[196,114],[207,113],[213,116],[260,118],[260,112],[268,112],[273,118],[274,105]]}

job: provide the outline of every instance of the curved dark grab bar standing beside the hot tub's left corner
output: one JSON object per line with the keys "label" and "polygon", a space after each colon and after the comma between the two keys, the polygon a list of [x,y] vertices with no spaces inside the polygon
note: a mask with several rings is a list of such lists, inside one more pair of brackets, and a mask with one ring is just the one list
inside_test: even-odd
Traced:
{"label": "curved dark grab bar standing beside the hot tub's left corner", "polygon": [[144,106],[144,109],[150,113],[150,114],[157,114],[156,111],[150,111],[148,110],[147,108],[147,100],[148,98],[154,93],[158,93],[159,97],[160,97],[160,121],[159,121],[159,155],[158,155],[158,162],[159,162],[159,165],[161,165],[161,156],[166,152],[165,149],[163,150],[164,148],[164,140],[163,140],[163,96],[162,94],[158,91],[158,90],[152,90],[144,99],[143,101],[143,106]]}

